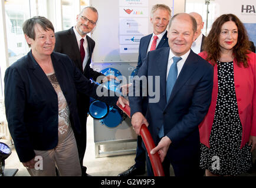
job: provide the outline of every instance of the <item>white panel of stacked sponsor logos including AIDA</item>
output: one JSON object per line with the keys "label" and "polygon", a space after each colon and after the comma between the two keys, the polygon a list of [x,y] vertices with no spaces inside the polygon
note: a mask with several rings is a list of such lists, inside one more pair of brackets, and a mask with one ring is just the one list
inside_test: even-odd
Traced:
{"label": "white panel of stacked sponsor logos including AIDA", "polygon": [[119,0],[120,53],[138,53],[142,36],[148,31],[148,0]]}

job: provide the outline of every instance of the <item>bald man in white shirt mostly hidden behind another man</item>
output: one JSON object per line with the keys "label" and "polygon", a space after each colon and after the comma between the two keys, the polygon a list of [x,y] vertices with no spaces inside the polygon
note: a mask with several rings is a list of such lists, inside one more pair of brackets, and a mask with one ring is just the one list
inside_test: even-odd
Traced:
{"label": "bald man in white shirt mostly hidden behind another man", "polygon": [[196,29],[196,39],[195,41],[192,43],[191,49],[193,52],[195,52],[196,54],[200,53],[203,51],[202,47],[204,44],[204,39],[206,38],[205,35],[203,35],[203,33],[201,32],[202,29],[204,28],[204,22],[202,19],[202,16],[199,15],[196,12],[191,12],[189,13],[191,16],[193,16],[193,18],[195,18],[196,20],[196,24],[197,24],[197,29]]}

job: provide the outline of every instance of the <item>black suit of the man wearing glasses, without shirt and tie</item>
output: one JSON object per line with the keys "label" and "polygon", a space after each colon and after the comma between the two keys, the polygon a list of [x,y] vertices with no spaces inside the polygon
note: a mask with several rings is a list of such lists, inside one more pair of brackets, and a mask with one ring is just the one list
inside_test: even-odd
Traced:
{"label": "black suit of the man wearing glasses, without shirt and tie", "polygon": [[[77,38],[73,30],[73,27],[65,31],[56,32],[55,38],[56,38],[56,43],[55,43],[54,51],[68,55],[70,59],[75,63],[77,68],[80,69],[81,73],[83,73],[83,75],[86,76],[87,79],[93,79],[94,81],[96,81],[98,76],[104,76],[100,72],[97,72],[90,68],[91,55],[93,53],[95,42],[88,35],[86,35],[86,39],[88,42],[89,59],[87,61],[87,64],[84,70],[81,65],[80,50],[78,47]],[[87,134],[86,122],[87,122],[87,113],[89,110],[89,106],[90,106],[89,96],[84,95],[83,93],[77,92],[78,116],[80,117],[80,122],[81,122],[81,125],[83,126],[81,135],[79,136],[75,134],[77,139],[79,155],[83,155],[83,153],[86,150],[86,134]],[[80,156],[80,160],[82,163],[82,160],[83,160],[82,156]]]}

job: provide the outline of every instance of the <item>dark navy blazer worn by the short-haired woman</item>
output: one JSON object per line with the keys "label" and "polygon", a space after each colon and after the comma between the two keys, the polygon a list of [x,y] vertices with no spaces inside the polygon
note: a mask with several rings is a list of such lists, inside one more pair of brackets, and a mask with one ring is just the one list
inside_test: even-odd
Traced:
{"label": "dark navy blazer worn by the short-haired woman", "polygon": [[[99,98],[98,85],[85,78],[67,55],[52,52],[52,65],[70,109],[71,126],[80,132],[77,90],[106,103],[117,97]],[[34,150],[50,150],[58,144],[58,96],[31,51],[5,72],[5,109],[9,131],[21,162],[28,162]]]}

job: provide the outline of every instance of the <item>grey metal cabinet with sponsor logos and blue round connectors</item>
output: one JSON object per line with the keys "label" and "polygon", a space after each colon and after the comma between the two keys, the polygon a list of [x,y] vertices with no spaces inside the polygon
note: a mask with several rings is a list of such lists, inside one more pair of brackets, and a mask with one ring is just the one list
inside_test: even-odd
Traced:
{"label": "grey metal cabinet with sponsor logos and blue round connectors", "polygon": [[[166,4],[172,9],[169,0],[91,0],[90,5],[99,12],[91,34],[96,41],[91,68],[123,76],[119,85],[110,82],[111,89],[118,90],[129,83],[129,76],[137,66],[140,38],[153,32],[150,12],[155,4]],[[130,119],[124,119],[122,114],[120,117],[115,108],[109,111],[104,119],[93,120],[96,157],[136,153],[137,135]]]}

